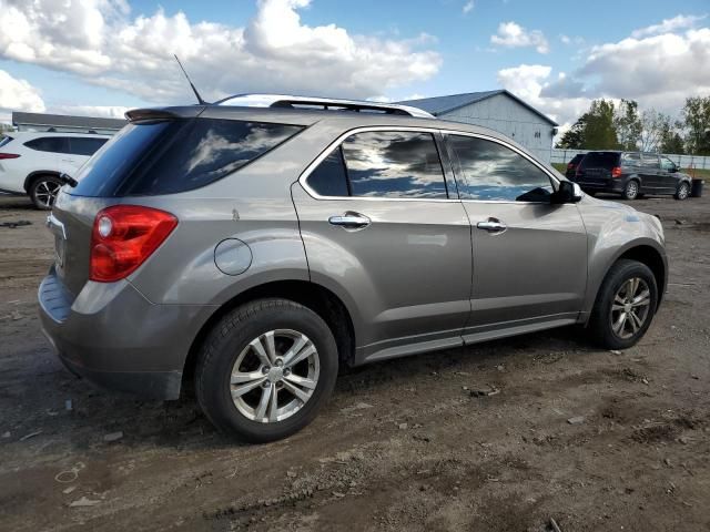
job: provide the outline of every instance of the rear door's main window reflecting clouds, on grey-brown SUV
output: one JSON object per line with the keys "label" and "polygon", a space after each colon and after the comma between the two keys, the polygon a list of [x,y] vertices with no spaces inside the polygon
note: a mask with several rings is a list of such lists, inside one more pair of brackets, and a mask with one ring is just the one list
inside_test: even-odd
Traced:
{"label": "rear door's main window reflecting clouds, on grey-brown SUV", "polygon": [[343,143],[343,155],[353,196],[447,197],[430,133],[357,133]]}

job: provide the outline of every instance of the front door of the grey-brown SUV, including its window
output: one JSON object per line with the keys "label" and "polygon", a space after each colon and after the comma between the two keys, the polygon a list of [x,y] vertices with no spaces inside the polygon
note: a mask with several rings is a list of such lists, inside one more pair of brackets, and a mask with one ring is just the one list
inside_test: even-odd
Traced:
{"label": "front door of the grey-brown SUV, including its window", "polygon": [[458,134],[446,142],[471,224],[465,338],[574,323],[587,285],[587,234],[577,205],[550,204],[549,174],[513,146]]}

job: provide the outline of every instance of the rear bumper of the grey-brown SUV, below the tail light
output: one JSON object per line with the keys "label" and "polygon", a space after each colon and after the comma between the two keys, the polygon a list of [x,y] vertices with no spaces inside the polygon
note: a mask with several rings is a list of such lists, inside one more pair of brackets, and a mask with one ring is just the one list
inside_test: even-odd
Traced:
{"label": "rear bumper of the grey-brown SUV, below the tail light", "polygon": [[71,372],[152,399],[180,397],[187,351],[212,308],[153,305],[125,280],[88,282],[73,298],[54,268],[38,299],[42,330]]}

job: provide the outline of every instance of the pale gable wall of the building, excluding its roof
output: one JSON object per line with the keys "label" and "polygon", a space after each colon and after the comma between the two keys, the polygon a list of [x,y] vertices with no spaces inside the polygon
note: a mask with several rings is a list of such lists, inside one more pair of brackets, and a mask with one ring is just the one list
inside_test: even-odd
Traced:
{"label": "pale gable wall of the building, excluding its roof", "polygon": [[506,94],[496,94],[438,117],[491,129],[521,144],[541,161],[550,162],[555,126]]}

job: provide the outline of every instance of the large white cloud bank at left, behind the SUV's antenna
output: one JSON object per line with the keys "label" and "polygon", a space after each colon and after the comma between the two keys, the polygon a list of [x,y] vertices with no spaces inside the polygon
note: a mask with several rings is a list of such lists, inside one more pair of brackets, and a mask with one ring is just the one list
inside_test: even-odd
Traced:
{"label": "large white cloud bank at left, behind the SUV's antenna", "polygon": [[[77,74],[153,103],[192,99],[176,53],[207,100],[242,92],[367,98],[423,81],[440,55],[414,39],[351,34],[310,27],[310,0],[258,0],[243,28],[193,22],[160,9],[130,17],[124,0],[0,0],[0,57]],[[9,29],[9,31],[6,31]]]}

